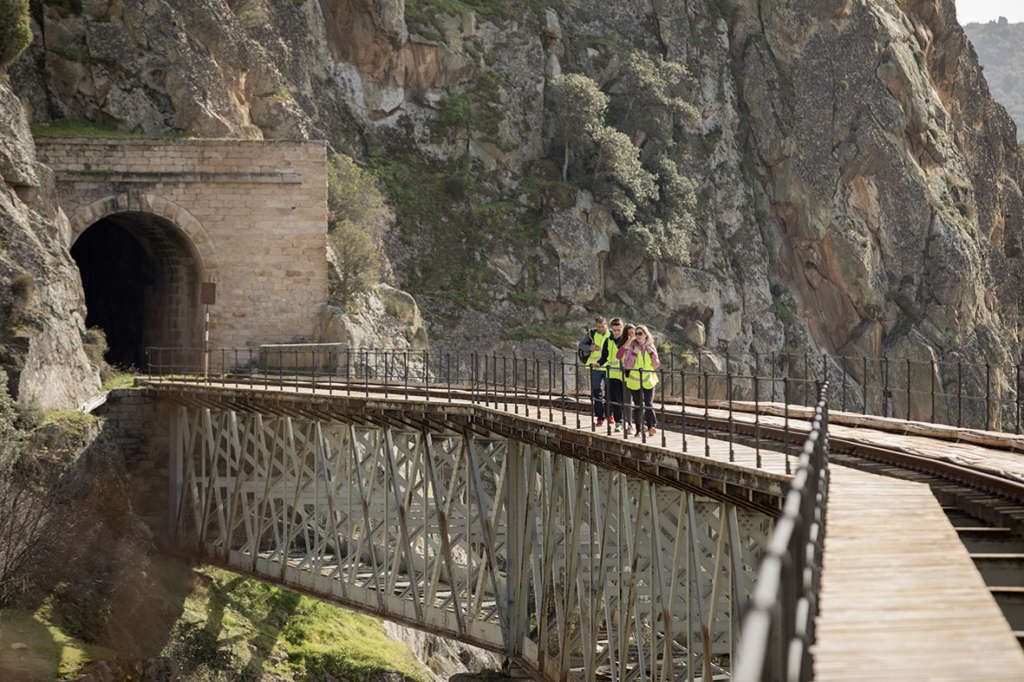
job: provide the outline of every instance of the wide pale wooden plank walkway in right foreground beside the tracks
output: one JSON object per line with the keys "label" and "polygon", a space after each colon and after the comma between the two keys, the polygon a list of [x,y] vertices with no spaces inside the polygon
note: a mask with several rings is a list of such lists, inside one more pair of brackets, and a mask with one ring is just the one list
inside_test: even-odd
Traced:
{"label": "wide pale wooden plank walkway in right foreground beside the tracks", "polygon": [[1024,651],[927,485],[830,467],[815,680],[1024,680]]}

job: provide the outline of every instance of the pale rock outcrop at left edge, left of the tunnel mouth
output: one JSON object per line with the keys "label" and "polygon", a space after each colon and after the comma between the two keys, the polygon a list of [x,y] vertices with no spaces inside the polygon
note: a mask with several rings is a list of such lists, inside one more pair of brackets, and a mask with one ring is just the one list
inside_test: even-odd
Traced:
{"label": "pale rock outcrop at left edge, left of the tunnel mouth", "polygon": [[0,79],[0,364],[19,404],[74,409],[99,389],[85,354],[85,298],[60,232],[52,173],[36,162],[20,102]]}

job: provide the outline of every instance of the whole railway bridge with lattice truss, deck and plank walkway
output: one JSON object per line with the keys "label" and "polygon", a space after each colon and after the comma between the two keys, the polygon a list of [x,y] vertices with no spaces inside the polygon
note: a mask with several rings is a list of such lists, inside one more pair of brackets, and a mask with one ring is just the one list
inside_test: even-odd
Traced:
{"label": "whole railway bridge with lattice truss, deck and plank walkway", "polygon": [[292,350],[139,380],[181,551],[537,679],[1024,679],[1018,434],[662,371],[626,437],[564,360]]}

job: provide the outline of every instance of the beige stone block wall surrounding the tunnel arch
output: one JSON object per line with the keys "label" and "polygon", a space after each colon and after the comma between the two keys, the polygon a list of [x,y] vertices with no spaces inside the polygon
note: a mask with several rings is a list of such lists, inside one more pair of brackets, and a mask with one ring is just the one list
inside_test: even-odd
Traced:
{"label": "beige stone block wall surrounding the tunnel arch", "polygon": [[[212,347],[312,338],[328,296],[325,143],[62,139],[37,146],[56,174],[69,248],[103,217],[159,216],[187,237],[201,281],[217,282]],[[201,321],[198,289],[194,303],[188,314]],[[196,341],[191,335],[182,345]]]}

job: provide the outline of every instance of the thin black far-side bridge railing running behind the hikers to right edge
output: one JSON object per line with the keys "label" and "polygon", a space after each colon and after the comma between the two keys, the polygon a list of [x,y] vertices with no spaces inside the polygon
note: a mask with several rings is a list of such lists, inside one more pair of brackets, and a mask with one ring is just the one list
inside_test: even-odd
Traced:
{"label": "thin black far-side bridge railing running behind the hikers to right edge", "polygon": [[[153,347],[146,349],[146,358],[147,372],[154,376],[233,377],[296,385],[312,382],[328,388],[358,383],[389,391],[450,387],[469,391],[472,396],[488,396],[488,401],[492,395],[511,392],[517,402],[522,398],[530,403],[540,391],[564,394],[562,402],[567,400],[577,411],[592,407],[588,370],[574,354],[524,357],[351,348],[344,344],[271,344],[207,352],[202,348]],[[738,410],[754,415],[772,412],[787,425],[791,408],[803,406],[808,410],[802,414],[809,414],[811,396],[828,382],[830,402],[843,413],[1017,434],[1024,428],[1020,365],[829,355],[812,358],[792,353],[678,354],[670,350],[663,356],[656,376],[654,414],[662,406],[678,412],[679,403],[685,401],[691,409],[725,410],[730,423]],[[527,400],[528,396],[534,397]],[[605,395],[604,402],[616,416],[630,418],[629,395],[611,401]],[[675,419],[667,416],[670,422]],[[755,438],[759,440],[762,420],[755,420]],[[645,438],[646,431],[640,435]],[[791,442],[788,436],[785,442]]]}

